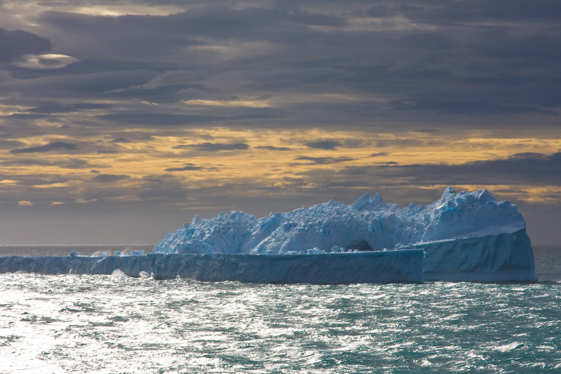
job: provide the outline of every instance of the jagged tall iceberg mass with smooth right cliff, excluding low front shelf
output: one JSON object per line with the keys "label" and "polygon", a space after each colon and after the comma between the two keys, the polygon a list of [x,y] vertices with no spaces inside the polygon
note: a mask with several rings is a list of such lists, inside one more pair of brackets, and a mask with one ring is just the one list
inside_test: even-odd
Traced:
{"label": "jagged tall iceberg mass with smooth right cliff, excluding low front shelf", "polygon": [[537,281],[526,222],[510,201],[486,189],[455,192],[426,207],[398,208],[379,194],[351,205],[328,201],[256,219],[221,213],[167,234],[153,253],[302,253],[307,248],[377,251],[422,248],[429,281]]}

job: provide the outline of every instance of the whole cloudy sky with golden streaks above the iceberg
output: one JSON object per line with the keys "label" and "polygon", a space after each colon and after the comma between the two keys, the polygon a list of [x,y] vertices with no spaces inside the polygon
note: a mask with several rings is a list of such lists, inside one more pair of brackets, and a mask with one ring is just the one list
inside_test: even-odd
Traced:
{"label": "whole cloudy sky with golden streaks above the iceberg", "polygon": [[561,242],[561,1],[0,0],[0,245],[488,189]]}

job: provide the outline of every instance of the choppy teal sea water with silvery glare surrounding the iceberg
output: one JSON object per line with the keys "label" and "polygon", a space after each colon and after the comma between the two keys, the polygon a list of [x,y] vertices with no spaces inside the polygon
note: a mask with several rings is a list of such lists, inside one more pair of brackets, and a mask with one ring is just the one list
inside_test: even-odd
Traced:
{"label": "choppy teal sea water with silvery glare surrounding the iceberg", "polygon": [[534,254],[539,283],[0,274],[0,373],[561,373],[561,248]]}

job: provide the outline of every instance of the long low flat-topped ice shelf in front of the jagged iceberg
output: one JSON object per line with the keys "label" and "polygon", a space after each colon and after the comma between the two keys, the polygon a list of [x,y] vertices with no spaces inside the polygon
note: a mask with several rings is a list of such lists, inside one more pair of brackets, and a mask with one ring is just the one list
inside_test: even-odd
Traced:
{"label": "long low flat-topped ice shelf in front of the jagged iceberg", "polygon": [[0,258],[0,273],[125,274],[248,283],[423,283],[422,249],[301,255],[147,254]]}

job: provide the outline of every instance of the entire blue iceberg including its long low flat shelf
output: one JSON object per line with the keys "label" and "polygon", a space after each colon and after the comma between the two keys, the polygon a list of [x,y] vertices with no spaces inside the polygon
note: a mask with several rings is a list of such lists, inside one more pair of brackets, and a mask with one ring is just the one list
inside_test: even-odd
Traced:
{"label": "entire blue iceberg including its long low flat shelf", "polygon": [[[121,253],[119,253],[121,254]],[[165,235],[151,253],[87,258],[0,258],[0,272],[152,274],[203,281],[390,283],[537,281],[526,222],[486,189],[398,208],[379,194],[269,217],[241,211]]]}

